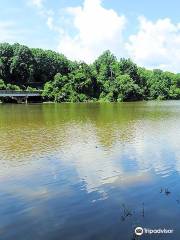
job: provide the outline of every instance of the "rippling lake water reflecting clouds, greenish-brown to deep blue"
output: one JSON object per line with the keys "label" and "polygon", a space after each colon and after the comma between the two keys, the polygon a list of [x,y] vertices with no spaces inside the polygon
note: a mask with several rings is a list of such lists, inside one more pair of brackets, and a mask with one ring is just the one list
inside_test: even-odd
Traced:
{"label": "rippling lake water reflecting clouds, greenish-brown to deep blue", "polygon": [[0,105],[1,240],[131,240],[137,226],[180,238],[180,102]]}

